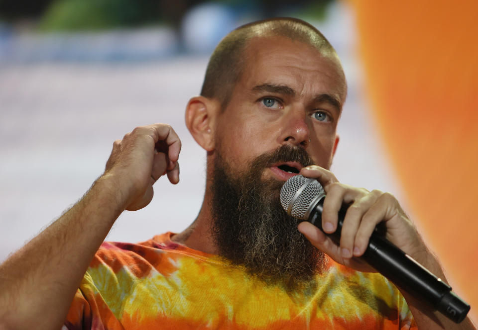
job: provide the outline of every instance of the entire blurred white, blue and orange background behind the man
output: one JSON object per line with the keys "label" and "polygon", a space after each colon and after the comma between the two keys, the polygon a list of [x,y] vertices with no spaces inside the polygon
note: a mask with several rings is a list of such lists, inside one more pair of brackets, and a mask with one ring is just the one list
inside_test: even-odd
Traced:
{"label": "entire blurred white, blue and orange background behind the man", "polygon": [[473,0],[0,0],[0,262],[74,204],[138,125],[175,128],[181,182],[161,178],[107,240],[186,228],[205,184],[186,103],[223,36],[274,16],[313,24],[342,59],[349,95],[332,170],[397,196],[476,316]]}

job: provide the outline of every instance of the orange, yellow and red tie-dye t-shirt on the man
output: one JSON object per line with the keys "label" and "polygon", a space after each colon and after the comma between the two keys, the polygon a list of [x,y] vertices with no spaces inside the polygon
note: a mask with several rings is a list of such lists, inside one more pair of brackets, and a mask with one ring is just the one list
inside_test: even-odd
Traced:
{"label": "orange, yellow and red tie-dye t-shirt on the man", "polygon": [[287,292],[171,241],[104,243],[63,329],[416,329],[381,275],[329,260],[313,290]]}

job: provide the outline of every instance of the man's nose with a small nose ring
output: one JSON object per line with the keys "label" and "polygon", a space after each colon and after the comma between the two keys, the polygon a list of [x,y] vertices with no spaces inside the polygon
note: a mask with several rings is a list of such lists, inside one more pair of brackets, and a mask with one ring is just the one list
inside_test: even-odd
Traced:
{"label": "man's nose with a small nose ring", "polygon": [[280,135],[281,144],[290,144],[295,147],[306,147],[310,142],[310,129],[303,109],[291,110],[284,116]]}

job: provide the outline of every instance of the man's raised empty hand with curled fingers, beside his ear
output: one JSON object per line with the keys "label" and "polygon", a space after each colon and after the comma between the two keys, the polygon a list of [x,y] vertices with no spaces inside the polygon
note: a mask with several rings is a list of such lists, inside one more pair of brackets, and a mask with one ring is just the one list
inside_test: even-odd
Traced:
{"label": "man's raised empty hand with curled fingers, beside his ear", "polygon": [[113,144],[102,178],[111,180],[123,209],[139,210],[153,198],[153,184],[164,174],[179,182],[181,141],[170,125],[136,127]]}

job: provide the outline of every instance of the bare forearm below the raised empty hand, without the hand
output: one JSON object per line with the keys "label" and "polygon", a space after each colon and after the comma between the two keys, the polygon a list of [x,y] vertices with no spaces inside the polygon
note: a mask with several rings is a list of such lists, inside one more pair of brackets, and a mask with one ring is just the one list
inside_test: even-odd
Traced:
{"label": "bare forearm below the raised empty hand, without the hand", "polygon": [[102,177],[0,265],[0,329],[59,329],[91,259],[121,211],[114,180]]}

